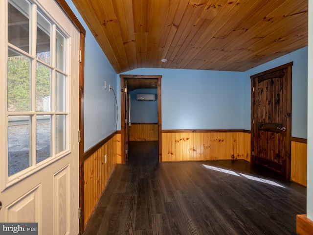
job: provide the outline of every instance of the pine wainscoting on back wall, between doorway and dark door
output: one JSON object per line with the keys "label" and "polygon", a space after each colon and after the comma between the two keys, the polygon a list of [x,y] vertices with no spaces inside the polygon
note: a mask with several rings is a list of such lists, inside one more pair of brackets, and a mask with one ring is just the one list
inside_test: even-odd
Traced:
{"label": "pine wainscoting on back wall, between doorway and dark door", "polygon": [[163,132],[162,161],[245,159],[250,162],[250,133]]}

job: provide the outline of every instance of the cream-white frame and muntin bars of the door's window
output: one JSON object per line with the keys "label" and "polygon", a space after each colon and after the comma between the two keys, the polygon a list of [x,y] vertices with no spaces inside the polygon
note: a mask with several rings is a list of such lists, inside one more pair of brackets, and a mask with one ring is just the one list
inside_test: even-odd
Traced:
{"label": "cream-white frame and muntin bars of the door's window", "polygon": [[[51,52],[51,64],[47,64],[39,59],[36,58],[36,34],[35,30],[30,30],[29,37],[30,37],[30,44],[29,44],[29,53],[23,51],[22,49],[9,44],[8,43],[8,0],[1,0],[0,1],[0,9],[4,14],[0,14],[0,28],[1,28],[1,36],[0,36],[0,54],[2,55],[0,57],[0,77],[5,79],[0,79],[0,111],[5,111],[5,115],[0,115],[0,126],[3,128],[0,128],[0,159],[1,164],[0,170],[1,170],[1,180],[0,180],[0,190],[3,191],[5,188],[8,188],[18,182],[20,182],[22,179],[28,177],[31,174],[34,174],[35,172],[39,171],[40,169],[46,167],[49,164],[54,163],[55,161],[61,159],[62,157],[66,156],[70,153],[70,75],[68,74],[68,71],[70,71],[70,41],[68,34],[66,33],[66,30],[64,30],[60,25],[57,24],[57,22],[51,18],[51,15],[46,12],[44,7],[37,1],[37,0],[28,0],[31,3],[31,12],[29,16],[29,24],[30,28],[37,28],[37,6],[40,14],[42,14],[46,20],[50,22],[52,25],[51,27],[51,33],[50,33],[50,52]],[[2,13],[1,12],[1,13]],[[2,30],[4,29],[4,30]],[[65,38],[66,38],[66,51],[65,51],[65,57],[67,57],[64,60],[65,63],[65,71],[61,71],[57,69],[55,66],[56,60],[55,60],[55,37],[56,37],[56,30],[59,31]],[[34,40],[32,40],[34,39]],[[15,51],[19,52],[23,56],[31,59],[31,84],[32,84],[32,90],[31,90],[31,109],[27,112],[12,112],[7,111],[7,57],[8,57],[8,48],[12,48]],[[67,55],[67,56],[66,56]],[[51,75],[51,84],[50,84],[50,95],[51,95],[51,112],[38,112],[36,111],[36,64],[37,62],[41,63],[42,65],[48,67],[49,69],[52,69],[52,75]],[[65,112],[55,112],[55,78],[56,78],[56,71],[66,76],[66,110]],[[40,163],[36,163],[36,118],[37,115],[51,115],[51,145],[50,149],[52,152],[52,156],[43,160]],[[55,126],[55,117],[56,115],[65,115],[66,116],[66,145],[65,150],[61,151],[58,154],[55,154],[55,143],[56,143],[56,126]],[[32,165],[28,166],[27,168],[8,176],[8,116],[14,117],[14,116],[29,116],[31,118],[31,124],[30,124],[30,135],[32,138],[30,149],[32,149],[31,158],[32,158]]]}

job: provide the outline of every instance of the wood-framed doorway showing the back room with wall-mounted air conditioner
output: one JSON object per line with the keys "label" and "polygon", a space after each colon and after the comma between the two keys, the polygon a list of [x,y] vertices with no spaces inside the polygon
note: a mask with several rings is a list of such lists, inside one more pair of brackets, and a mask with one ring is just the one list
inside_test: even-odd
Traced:
{"label": "wood-framed doorway showing the back room with wall-mounted air conditioner", "polygon": [[162,76],[120,75],[120,78],[122,164],[128,161],[129,145],[133,141],[157,141],[158,161],[161,162]]}

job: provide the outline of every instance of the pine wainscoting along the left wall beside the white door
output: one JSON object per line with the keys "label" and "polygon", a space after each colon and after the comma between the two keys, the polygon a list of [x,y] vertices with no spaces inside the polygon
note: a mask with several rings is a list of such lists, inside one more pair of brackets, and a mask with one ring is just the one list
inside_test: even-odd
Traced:
{"label": "pine wainscoting along the left wall beside the white door", "polygon": [[85,225],[115,168],[118,158],[117,143],[118,134],[106,141],[84,162]]}

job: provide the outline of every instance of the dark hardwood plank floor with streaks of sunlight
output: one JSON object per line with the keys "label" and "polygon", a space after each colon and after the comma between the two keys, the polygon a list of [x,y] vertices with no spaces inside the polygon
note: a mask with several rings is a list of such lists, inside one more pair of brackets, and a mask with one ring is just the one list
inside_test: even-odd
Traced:
{"label": "dark hardwood plank floor with streaks of sunlight", "polygon": [[244,160],[157,162],[157,142],[131,142],[85,235],[293,235],[306,188]]}

